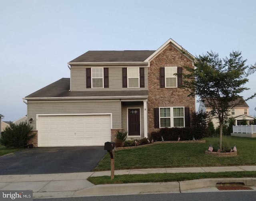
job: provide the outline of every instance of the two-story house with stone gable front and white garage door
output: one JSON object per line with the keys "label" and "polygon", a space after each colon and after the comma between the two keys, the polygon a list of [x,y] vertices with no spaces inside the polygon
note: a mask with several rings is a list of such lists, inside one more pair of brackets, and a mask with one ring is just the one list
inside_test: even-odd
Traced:
{"label": "two-story house with stone gable front and white garage door", "polygon": [[[160,127],[190,126],[195,99],[180,88],[194,68],[169,39],[156,51],[88,51],[62,78],[24,98],[35,146],[103,146],[118,130],[148,137]],[[175,76],[174,73],[178,73]]]}

